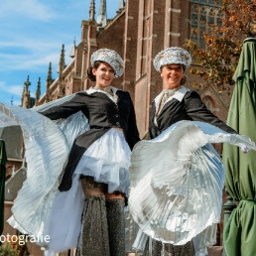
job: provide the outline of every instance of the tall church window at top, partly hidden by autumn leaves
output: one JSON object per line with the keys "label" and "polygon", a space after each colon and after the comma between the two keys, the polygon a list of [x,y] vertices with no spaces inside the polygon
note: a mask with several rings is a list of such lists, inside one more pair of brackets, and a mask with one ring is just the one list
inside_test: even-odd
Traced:
{"label": "tall church window at top, partly hidden by autumn leaves", "polygon": [[200,48],[205,49],[203,33],[209,32],[210,24],[220,25],[220,7],[222,0],[192,0],[191,29],[192,41]]}

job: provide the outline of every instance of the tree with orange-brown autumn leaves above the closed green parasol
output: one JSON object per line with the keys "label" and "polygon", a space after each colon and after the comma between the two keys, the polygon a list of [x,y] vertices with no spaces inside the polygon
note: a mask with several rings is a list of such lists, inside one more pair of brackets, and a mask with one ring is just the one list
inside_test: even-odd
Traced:
{"label": "tree with orange-brown autumn leaves above the closed green parasol", "polygon": [[[220,13],[220,25],[208,24],[208,31],[203,32],[205,49],[199,49],[192,40],[186,44],[193,60],[199,64],[198,67],[192,67],[190,72],[205,81],[193,81],[193,87],[212,85],[218,91],[229,91],[229,85],[234,84],[232,76],[238,64],[242,42],[256,36],[256,1],[223,0]],[[192,30],[192,33],[198,36],[197,30]]]}

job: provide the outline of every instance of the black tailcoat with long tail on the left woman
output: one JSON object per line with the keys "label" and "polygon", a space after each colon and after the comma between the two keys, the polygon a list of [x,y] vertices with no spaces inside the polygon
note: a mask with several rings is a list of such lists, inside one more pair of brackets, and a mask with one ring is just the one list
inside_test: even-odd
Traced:
{"label": "black tailcoat with long tail on the left woman", "polygon": [[72,174],[83,153],[112,127],[123,129],[125,139],[131,150],[140,140],[134,106],[127,91],[116,90],[118,96],[116,103],[103,92],[88,93],[87,91],[78,92],[69,101],[41,112],[50,119],[57,120],[81,111],[88,119],[90,126],[89,131],[79,135],[73,142],[64,168],[60,191],[70,189]]}

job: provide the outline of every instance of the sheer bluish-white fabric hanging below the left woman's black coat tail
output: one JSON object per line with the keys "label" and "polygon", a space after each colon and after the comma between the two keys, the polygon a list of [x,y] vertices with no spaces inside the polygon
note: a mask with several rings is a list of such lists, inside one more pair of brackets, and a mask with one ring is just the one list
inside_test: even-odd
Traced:
{"label": "sheer bluish-white fabric hanging below the left woman's black coat tail", "polygon": [[79,176],[74,175],[70,190],[57,192],[49,217],[45,220],[43,234],[51,238],[45,256],[78,247],[83,207],[84,193]]}

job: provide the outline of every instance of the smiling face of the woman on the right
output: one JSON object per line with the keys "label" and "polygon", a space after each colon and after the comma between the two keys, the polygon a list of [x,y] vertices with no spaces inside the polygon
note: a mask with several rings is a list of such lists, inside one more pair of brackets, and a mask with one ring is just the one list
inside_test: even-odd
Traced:
{"label": "smiling face of the woman on the right", "polygon": [[175,89],[180,86],[184,74],[182,64],[166,64],[161,69],[165,89]]}

